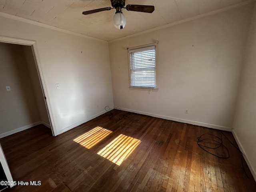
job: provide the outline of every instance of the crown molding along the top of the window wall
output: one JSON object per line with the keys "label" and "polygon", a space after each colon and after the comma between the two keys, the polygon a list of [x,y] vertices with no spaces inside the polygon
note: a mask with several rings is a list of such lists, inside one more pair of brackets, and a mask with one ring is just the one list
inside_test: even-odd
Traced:
{"label": "crown molding along the top of the window wall", "polygon": [[131,37],[134,37],[134,36],[146,34],[146,33],[149,33],[149,32],[154,32],[154,31],[157,31],[157,30],[160,30],[160,29],[168,28],[168,27],[171,27],[171,26],[174,26],[174,25],[178,25],[178,24],[188,22],[188,21],[191,21],[191,20],[203,18],[203,17],[206,17],[206,16],[214,15],[214,14],[221,13],[221,12],[224,12],[224,11],[227,11],[227,10],[232,10],[234,8],[238,8],[238,7],[245,6],[247,4],[255,3],[255,2],[256,2],[256,0],[246,0],[244,2],[235,4],[235,5],[232,5],[232,6],[228,6],[228,7],[221,8],[221,9],[218,9],[218,10],[215,10],[215,11],[212,11],[212,12],[200,14],[200,15],[197,15],[197,16],[194,16],[194,17],[191,17],[191,18],[186,18],[186,19],[183,19],[183,20],[180,20],[180,21],[172,22],[172,23],[166,24],[164,26],[149,29],[149,30],[142,31],[142,32],[139,32],[139,33],[136,33],[136,34],[128,35],[128,36],[117,38],[117,39],[114,39],[114,40],[110,40],[108,42],[112,43],[112,42],[116,42],[116,41],[119,41],[119,40],[124,40],[124,39],[127,39],[127,38],[131,38]]}

